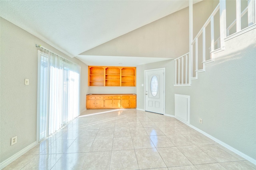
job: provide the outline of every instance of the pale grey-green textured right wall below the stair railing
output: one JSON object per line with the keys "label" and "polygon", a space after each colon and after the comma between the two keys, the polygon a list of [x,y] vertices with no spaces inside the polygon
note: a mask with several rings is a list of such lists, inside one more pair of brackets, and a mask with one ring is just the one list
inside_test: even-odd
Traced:
{"label": "pale grey-green textured right wall below the stair railing", "polygon": [[[256,29],[226,41],[190,87],[190,124],[256,159]],[[174,61],[172,61],[174,63]],[[174,69],[172,69],[174,74]],[[172,82],[174,84],[174,80]],[[170,84],[171,86],[171,84]],[[174,107],[174,102],[169,103]],[[174,109],[172,109],[174,115]],[[199,123],[199,118],[203,123]]]}

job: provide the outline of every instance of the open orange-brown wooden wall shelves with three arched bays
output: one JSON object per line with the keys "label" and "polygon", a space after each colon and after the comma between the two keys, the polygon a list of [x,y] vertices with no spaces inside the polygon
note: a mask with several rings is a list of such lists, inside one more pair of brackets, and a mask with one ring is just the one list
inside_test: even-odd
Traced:
{"label": "open orange-brown wooden wall shelves with three arched bays", "polygon": [[88,66],[88,86],[136,86],[136,67]]}

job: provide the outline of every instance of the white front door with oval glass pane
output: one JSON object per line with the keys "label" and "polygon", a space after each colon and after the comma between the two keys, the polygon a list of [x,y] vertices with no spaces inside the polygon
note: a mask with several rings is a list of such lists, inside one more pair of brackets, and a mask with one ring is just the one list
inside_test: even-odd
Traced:
{"label": "white front door with oval glass pane", "polygon": [[145,110],[165,112],[165,68],[145,70]]}

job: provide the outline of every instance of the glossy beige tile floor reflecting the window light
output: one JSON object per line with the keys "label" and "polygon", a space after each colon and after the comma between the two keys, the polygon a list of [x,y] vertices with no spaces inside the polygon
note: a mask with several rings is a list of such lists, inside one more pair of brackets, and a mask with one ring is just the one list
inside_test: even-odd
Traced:
{"label": "glossy beige tile floor reflecting the window light", "polygon": [[253,170],[256,166],[173,117],[102,109],[84,111],[4,170],[155,168]]}

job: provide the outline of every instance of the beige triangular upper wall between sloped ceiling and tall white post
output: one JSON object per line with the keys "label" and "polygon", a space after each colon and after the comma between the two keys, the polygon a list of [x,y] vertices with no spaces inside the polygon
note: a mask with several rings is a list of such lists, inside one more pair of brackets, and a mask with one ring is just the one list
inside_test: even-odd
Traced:
{"label": "beige triangular upper wall between sloped ceiling and tall white post", "polygon": [[189,50],[188,19],[185,8],[80,55],[178,57]]}

